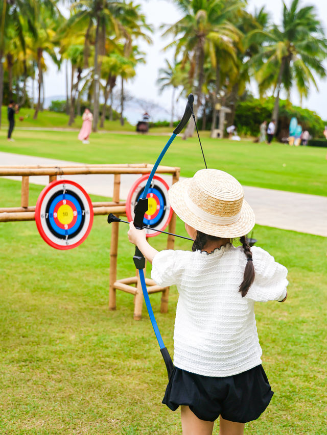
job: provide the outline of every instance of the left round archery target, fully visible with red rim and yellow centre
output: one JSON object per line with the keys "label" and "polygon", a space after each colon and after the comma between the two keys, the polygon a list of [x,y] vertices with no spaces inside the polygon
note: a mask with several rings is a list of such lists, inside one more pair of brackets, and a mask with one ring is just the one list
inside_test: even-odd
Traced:
{"label": "left round archery target, fully visible with red rim and yellow centre", "polygon": [[93,207],[90,197],[77,183],[53,181],[40,193],[35,222],[42,239],[56,249],[80,245],[91,231]]}

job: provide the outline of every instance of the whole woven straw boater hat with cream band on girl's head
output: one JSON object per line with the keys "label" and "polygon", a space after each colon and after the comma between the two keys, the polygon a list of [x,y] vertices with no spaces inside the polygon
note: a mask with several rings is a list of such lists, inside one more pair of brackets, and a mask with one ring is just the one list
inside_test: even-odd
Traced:
{"label": "whole woven straw boater hat with cream band on girl's head", "polygon": [[178,181],[169,189],[168,197],[177,216],[205,234],[241,237],[255,223],[240,183],[218,169],[201,169],[193,178]]}

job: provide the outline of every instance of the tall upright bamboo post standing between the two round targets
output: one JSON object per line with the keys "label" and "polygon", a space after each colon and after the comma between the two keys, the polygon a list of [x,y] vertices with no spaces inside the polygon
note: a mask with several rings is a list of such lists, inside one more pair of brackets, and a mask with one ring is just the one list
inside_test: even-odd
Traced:
{"label": "tall upright bamboo post standing between the two round targets", "polygon": [[[112,201],[119,203],[121,187],[120,174],[114,174],[113,179],[113,196]],[[117,252],[118,252],[118,232],[119,222],[112,222],[111,224],[111,243],[110,243],[110,270],[109,270],[109,310],[116,309],[116,289],[114,282],[117,277]]]}

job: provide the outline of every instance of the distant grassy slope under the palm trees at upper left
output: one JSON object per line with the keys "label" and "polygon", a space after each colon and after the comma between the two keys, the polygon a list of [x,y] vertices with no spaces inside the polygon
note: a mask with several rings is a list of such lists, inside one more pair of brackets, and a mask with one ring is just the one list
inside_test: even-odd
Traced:
{"label": "distant grassy slope under the palm trees at upper left", "polygon": [[[77,116],[72,125],[68,125],[69,117],[64,113],[56,113],[50,112],[48,110],[44,110],[43,112],[39,112],[37,119],[33,119],[34,110],[28,108],[21,108],[19,113],[15,115],[15,129],[26,129],[26,128],[42,128],[42,129],[80,129],[82,126],[82,117]],[[24,118],[20,120],[19,118]],[[2,117],[1,124],[3,129],[8,127],[8,118],[7,118],[7,107],[2,107]],[[135,126],[130,125],[128,122],[125,122],[125,125],[122,126],[120,121],[109,121],[105,120],[104,127],[102,130],[110,130],[110,131],[135,131]]]}

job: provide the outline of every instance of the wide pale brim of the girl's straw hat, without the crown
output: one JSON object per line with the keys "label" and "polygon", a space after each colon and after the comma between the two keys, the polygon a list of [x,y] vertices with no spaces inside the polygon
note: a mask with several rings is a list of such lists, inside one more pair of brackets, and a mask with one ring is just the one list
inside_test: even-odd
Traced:
{"label": "wide pale brim of the girl's straw hat, without the crown", "polygon": [[242,209],[237,221],[230,224],[217,224],[196,216],[186,206],[184,195],[191,185],[192,178],[185,178],[173,184],[168,192],[169,202],[176,215],[188,225],[216,237],[233,238],[247,235],[255,224],[254,212],[250,205],[243,200]]}

